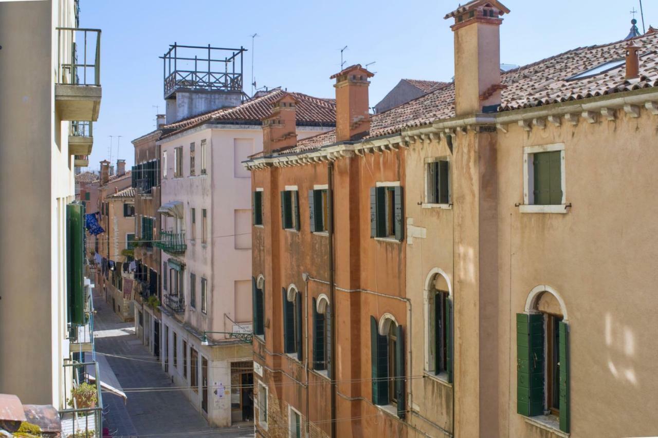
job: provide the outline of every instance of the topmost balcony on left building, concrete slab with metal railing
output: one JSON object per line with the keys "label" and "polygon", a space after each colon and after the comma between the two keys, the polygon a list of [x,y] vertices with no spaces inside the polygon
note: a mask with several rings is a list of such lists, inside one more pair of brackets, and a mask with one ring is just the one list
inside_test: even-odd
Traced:
{"label": "topmost balcony on left building, concrete slab with metal railing", "polygon": [[61,120],[98,120],[101,30],[57,28],[55,107]]}

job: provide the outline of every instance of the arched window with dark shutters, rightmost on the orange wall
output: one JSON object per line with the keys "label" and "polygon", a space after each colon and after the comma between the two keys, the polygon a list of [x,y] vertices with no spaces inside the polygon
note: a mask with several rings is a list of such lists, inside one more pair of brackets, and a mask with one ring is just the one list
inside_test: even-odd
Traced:
{"label": "arched window with dark shutters, rightmost on the orange wall", "polygon": [[370,316],[370,359],[372,403],[393,404],[397,416],[405,418],[405,339],[392,314],[384,314],[379,324]]}

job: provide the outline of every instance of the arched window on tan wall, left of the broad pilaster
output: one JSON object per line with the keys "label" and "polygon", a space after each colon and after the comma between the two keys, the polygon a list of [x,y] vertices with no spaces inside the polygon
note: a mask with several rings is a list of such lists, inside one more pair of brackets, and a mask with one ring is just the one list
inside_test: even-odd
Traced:
{"label": "arched window on tan wall, left of the broad pilaster", "polygon": [[451,287],[445,272],[434,268],[425,286],[425,369],[452,383],[453,312]]}

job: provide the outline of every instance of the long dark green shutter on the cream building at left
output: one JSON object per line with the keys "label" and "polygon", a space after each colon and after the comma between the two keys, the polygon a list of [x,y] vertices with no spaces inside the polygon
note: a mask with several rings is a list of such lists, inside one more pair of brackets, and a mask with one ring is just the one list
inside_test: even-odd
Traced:
{"label": "long dark green shutter on the cream building at left", "polygon": [[81,204],[66,206],[66,268],[67,296],[70,322],[84,324],[84,227],[83,209]]}

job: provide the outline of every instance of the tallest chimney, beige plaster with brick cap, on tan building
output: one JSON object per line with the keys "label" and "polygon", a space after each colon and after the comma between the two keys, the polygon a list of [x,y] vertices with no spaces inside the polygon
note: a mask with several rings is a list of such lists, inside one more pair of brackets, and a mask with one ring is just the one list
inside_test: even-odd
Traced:
{"label": "tallest chimney, beige plaster with brick cap, on tan building", "polygon": [[444,18],[454,18],[455,109],[458,116],[495,112],[501,103],[500,24],[509,9],[495,0],[473,0]]}

